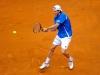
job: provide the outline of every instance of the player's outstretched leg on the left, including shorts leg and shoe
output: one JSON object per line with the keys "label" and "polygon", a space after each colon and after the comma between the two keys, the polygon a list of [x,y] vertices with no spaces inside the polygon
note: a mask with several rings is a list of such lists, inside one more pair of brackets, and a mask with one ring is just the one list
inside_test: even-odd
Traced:
{"label": "player's outstretched leg on the left, including shorts leg and shoe", "polygon": [[58,39],[59,39],[58,37],[56,37],[56,38],[54,39],[53,45],[51,46],[51,48],[50,48],[50,50],[49,50],[49,53],[48,53],[48,55],[47,55],[45,61],[44,61],[43,64],[40,66],[40,69],[44,69],[44,68],[46,68],[46,67],[49,66],[50,60],[51,60],[51,58],[52,58],[52,56],[53,56],[53,53],[54,53],[56,47],[57,47],[58,45],[60,45],[60,41],[59,41]]}

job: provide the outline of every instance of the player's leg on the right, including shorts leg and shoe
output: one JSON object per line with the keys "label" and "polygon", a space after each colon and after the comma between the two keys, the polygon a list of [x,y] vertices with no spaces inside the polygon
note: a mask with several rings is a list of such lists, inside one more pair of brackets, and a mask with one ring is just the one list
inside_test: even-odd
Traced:
{"label": "player's leg on the right, including shorts leg and shoe", "polygon": [[71,38],[63,38],[61,40],[62,44],[62,54],[68,59],[68,67],[69,69],[73,69],[74,68],[74,63],[73,63],[73,57],[69,55],[69,53],[67,52],[67,48],[69,46],[69,43],[71,41]]}

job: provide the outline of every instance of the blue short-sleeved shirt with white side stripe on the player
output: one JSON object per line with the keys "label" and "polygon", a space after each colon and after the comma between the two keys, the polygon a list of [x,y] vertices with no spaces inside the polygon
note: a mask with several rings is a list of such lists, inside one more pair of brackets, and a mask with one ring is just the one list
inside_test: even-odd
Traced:
{"label": "blue short-sleeved shirt with white side stripe on the player", "polygon": [[60,38],[72,36],[71,23],[68,16],[65,13],[61,12],[59,15],[55,16],[54,22],[59,24],[57,28],[58,29],[57,35]]}

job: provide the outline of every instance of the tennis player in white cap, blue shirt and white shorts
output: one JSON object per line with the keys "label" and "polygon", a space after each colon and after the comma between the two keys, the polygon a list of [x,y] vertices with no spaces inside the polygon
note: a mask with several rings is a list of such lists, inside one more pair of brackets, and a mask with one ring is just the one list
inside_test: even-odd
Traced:
{"label": "tennis player in white cap, blue shirt and white shorts", "polygon": [[53,6],[53,12],[55,14],[54,25],[48,28],[43,28],[43,31],[48,32],[57,29],[58,33],[53,41],[53,45],[51,49],[49,50],[48,56],[40,66],[40,69],[49,67],[51,57],[57,46],[61,46],[62,54],[68,59],[69,69],[73,69],[74,67],[73,58],[66,52],[72,38],[72,29],[71,29],[70,20],[68,16],[62,11],[60,5]]}

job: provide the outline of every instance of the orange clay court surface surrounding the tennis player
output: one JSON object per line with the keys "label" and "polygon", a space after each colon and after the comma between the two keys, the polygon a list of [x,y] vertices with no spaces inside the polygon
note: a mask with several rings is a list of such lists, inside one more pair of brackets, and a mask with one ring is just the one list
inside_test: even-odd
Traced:
{"label": "orange clay court surface surrounding the tennis player", "polygon": [[[47,70],[39,66],[56,32],[32,32],[33,24],[53,24],[52,6],[70,17],[73,38],[68,52],[75,68],[68,70],[58,47]],[[0,0],[0,75],[100,75],[100,0]],[[17,33],[13,34],[12,31]]]}

